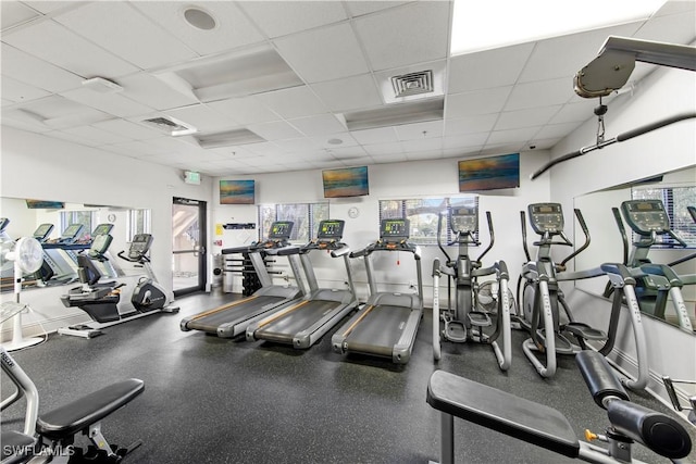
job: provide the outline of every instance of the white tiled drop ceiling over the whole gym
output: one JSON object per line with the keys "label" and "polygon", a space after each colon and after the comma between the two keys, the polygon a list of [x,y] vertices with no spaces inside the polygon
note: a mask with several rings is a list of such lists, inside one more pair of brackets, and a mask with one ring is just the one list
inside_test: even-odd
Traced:
{"label": "white tiled drop ceiling over the whole gym", "polygon": [[[210,176],[550,149],[594,117],[572,77],[608,36],[696,38],[693,0],[457,57],[444,0],[0,3],[3,126]],[[215,26],[188,24],[191,5]],[[407,85],[432,92],[394,93],[428,71]],[[146,122],[161,118],[197,131]]]}

